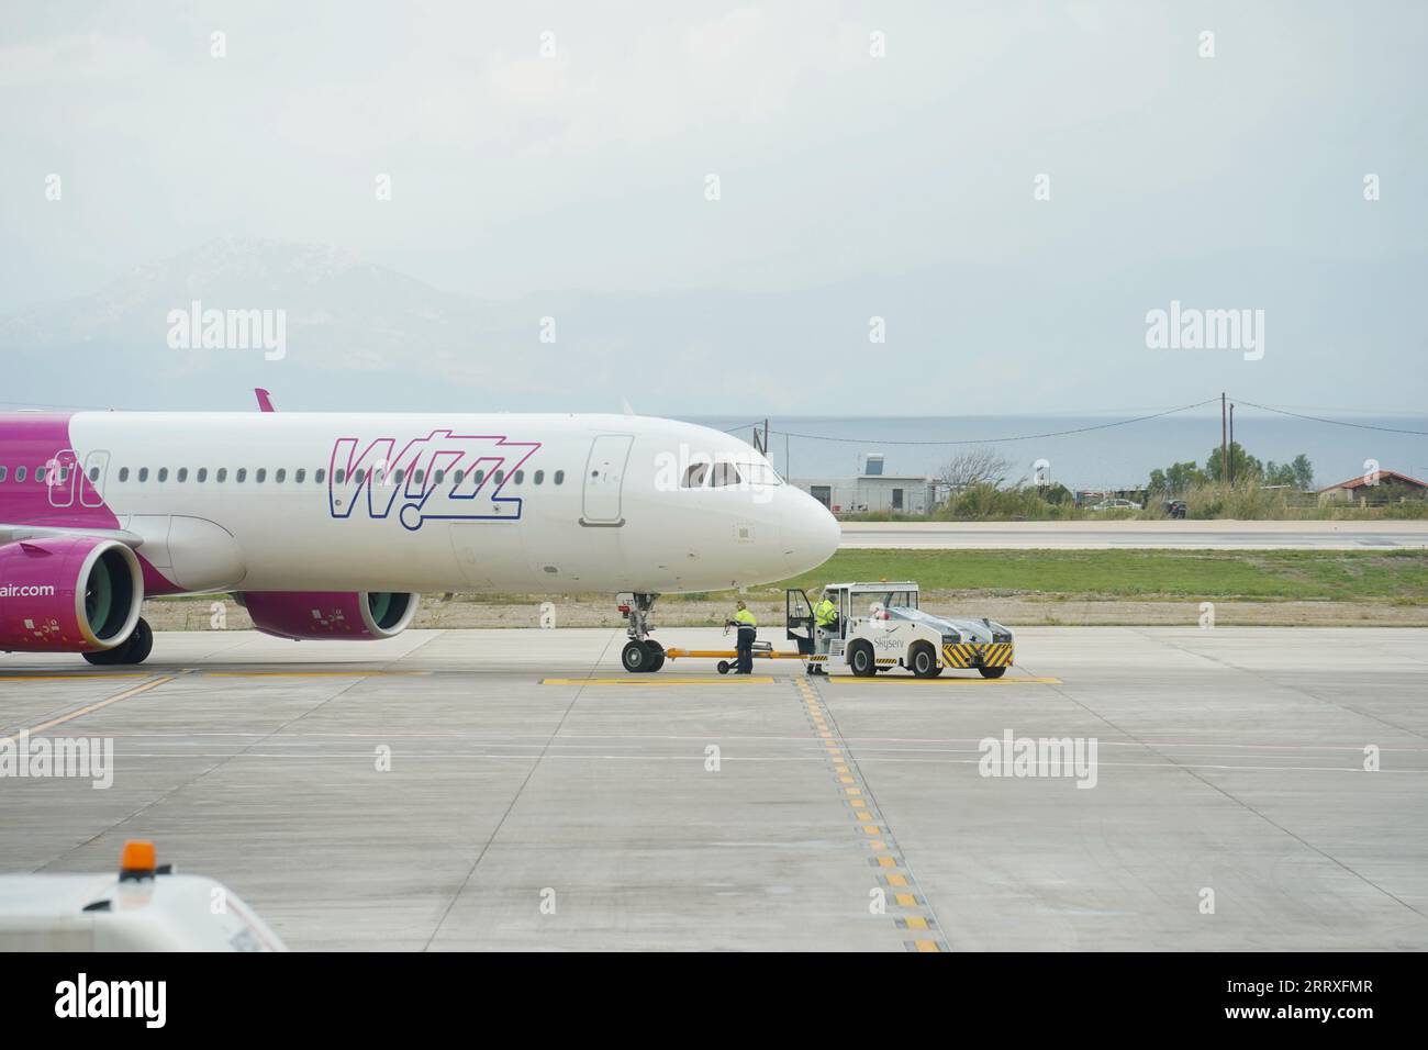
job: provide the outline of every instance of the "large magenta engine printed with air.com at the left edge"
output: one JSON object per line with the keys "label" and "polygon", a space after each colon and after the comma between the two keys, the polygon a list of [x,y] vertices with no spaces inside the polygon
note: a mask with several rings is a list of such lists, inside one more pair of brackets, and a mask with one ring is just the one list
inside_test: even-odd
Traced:
{"label": "large magenta engine printed with air.com at the left edge", "polygon": [[0,650],[100,653],[139,623],[144,573],[123,543],[91,536],[0,547]]}

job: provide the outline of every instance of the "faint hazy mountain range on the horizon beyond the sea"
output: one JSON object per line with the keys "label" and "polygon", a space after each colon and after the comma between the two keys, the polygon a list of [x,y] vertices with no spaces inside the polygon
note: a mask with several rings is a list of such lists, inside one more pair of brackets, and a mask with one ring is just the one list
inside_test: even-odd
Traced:
{"label": "faint hazy mountain range on the horizon beyond the sea", "polygon": [[[1221,389],[1269,404],[1421,410],[1424,260],[1265,250],[1088,273],[1050,256],[940,264],[788,293],[443,291],[330,246],[224,239],[99,291],[0,316],[0,400],[248,409],[661,414],[1077,413]],[[1172,299],[1267,311],[1262,361],[1145,347]],[[286,357],[171,349],[169,316],[283,310]],[[543,326],[543,319],[554,319]],[[871,319],[887,341],[870,341]],[[554,341],[543,341],[554,334]],[[1404,383],[1384,383],[1405,376]]]}

